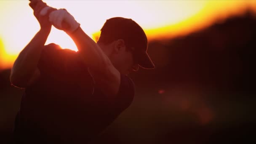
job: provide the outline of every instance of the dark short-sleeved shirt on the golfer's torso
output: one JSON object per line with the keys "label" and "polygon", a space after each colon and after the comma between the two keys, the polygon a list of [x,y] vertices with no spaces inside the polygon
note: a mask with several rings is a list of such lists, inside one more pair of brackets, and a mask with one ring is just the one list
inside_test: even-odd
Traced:
{"label": "dark short-sleeved shirt on the golfer's torso", "polygon": [[59,45],[45,45],[37,67],[40,78],[26,88],[16,116],[16,143],[85,144],[133,100],[129,77],[121,75],[117,96],[105,96],[95,87],[78,52]]}

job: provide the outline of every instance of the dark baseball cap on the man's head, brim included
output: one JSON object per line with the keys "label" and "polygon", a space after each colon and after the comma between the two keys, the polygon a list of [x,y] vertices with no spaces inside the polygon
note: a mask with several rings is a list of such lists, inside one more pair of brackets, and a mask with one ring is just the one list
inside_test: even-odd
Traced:
{"label": "dark baseball cap on the man's head, brim included", "polygon": [[148,41],[144,30],[132,19],[114,17],[107,19],[101,28],[100,41],[112,42],[123,39],[126,47],[133,52],[133,58],[144,69],[155,68],[147,53]]}

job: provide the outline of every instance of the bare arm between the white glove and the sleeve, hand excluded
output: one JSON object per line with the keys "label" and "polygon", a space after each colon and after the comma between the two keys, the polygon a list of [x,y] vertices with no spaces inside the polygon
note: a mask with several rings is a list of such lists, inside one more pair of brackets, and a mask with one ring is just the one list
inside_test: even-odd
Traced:
{"label": "bare arm between the white glove and the sleeve, hand excluded", "polygon": [[89,67],[96,85],[107,96],[116,96],[120,86],[120,72],[112,65],[108,56],[80,27],[69,36],[77,45],[79,54]]}

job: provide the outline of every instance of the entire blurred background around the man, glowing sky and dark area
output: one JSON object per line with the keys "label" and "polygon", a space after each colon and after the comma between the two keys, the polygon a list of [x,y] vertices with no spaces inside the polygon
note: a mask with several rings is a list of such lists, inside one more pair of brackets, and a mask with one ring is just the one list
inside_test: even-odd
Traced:
{"label": "entire blurred background around the man, glowing sky and dark area", "polygon": [[[255,140],[255,0],[45,0],[66,8],[93,40],[114,16],[145,30],[153,70],[131,75],[136,96],[92,144],[208,144]],[[0,1],[0,144],[11,139],[24,90],[11,66],[39,30],[26,0]],[[53,28],[47,43],[77,51]],[[47,44],[46,43],[46,44]]]}

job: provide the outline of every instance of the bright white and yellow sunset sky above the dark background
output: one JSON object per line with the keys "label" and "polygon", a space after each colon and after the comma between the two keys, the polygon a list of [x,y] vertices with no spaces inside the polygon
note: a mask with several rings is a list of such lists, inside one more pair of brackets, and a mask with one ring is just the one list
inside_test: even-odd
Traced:
{"label": "bright white and yellow sunset sky above the dark background", "polygon": [[[94,39],[111,17],[131,18],[145,30],[148,39],[171,38],[203,29],[247,8],[256,12],[256,0],[44,0],[66,8]],[[29,0],[0,0],[0,69],[10,68],[19,52],[40,29]],[[65,32],[53,28],[46,44],[77,51]]]}

